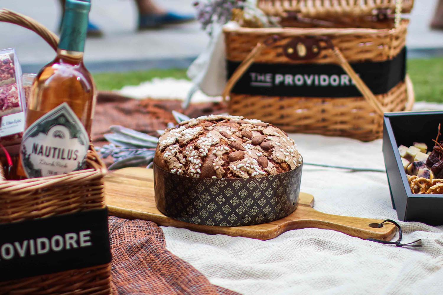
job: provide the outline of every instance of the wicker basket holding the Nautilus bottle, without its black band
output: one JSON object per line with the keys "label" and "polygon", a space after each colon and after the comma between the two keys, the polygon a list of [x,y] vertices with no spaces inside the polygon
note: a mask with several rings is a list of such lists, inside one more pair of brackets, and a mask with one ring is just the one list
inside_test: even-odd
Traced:
{"label": "wicker basket holding the Nautilus bottle, without its black band", "polygon": [[[0,21],[35,31],[57,48],[58,37],[27,16],[2,9]],[[85,170],[58,176],[14,180],[18,179],[15,169],[4,169],[6,158],[0,160],[0,224],[105,208],[103,177],[107,170],[92,144]],[[14,167],[17,160],[13,159]],[[110,264],[0,282],[0,293],[111,294]]]}

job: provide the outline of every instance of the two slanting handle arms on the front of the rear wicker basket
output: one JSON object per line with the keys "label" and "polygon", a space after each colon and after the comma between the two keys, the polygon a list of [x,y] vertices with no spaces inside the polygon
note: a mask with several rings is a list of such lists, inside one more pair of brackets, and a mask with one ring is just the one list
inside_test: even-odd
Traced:
{"label": "two slanting handle arms on the front of the rear wicker basket", "polygon": [[[251,52],[246,56],[246,58],[241,62],[241,64],[234,71],[232,76],[229,78],[228,82],[226,82],[225,88],[223,89],[223,93],[221,97],[223,101],[226,101],[226,97],[229,96],[234,85],[240,79],[240,77],[245,73],[245,71],[249,68],[249,66],[253,63],[255,58],[261,53],[261,51],[267,47],[280,40],[278,36],[272,36],[267,38],[264,42],[258,42],[257,45],[251,50]],[[324,37],[322,41],[326,42],[328,48],[330,48],[334,54],[334,57],[337,59],[338,64],[342,67],[342,69],[349,75],[349,77],[354,81],[355,86],[361,92],[362,96],[365,100],[374,108],[374,110],[379,114],[383,115],[385,112],[381,103],[374,96],[372,91],[366,86],[365,82],[361,80],[357,73],[355,73],[354,69],[351,67],[349,62],[343,56],[342,52],[338,49],[338,47],[334,46],[334,44],[330,41],[329,38]]]}

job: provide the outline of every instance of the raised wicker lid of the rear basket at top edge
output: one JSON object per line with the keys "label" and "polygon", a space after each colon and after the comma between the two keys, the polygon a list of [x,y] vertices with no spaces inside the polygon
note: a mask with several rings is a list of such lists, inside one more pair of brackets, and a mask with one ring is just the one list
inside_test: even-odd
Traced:
{"label": "raised wicker lid of the rear basket at top edge", "polygon": [[265,14],[272,16],[288,16],[296,13],[303,17],[323,18],[351,16],[360,17],[374,15],[382,11],[394,14],[396,5],[401,5],[402,13],[409,13],[414,0],[258,0],[257,6]]}

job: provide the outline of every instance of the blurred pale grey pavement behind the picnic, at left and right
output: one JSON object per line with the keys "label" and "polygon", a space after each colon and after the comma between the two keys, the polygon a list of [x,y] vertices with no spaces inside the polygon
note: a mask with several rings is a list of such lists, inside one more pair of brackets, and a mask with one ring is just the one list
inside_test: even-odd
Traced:
{"label": "blurred pale grey pavement behind the picnic, at left and right", "polygon": [[[163,7],[194,12],[194,0],[160,1]],[[428,27],[436,0],[417,0],[411,15],[409,56],[443,55],[443,31]],[[58,0],[9,0],[2,6],[29,15],[56,31],[60,17]],[[208,37],[199,24],[188,23],[156,31],[136,31],[136,7],[132,0],[94,0],[90,19],[105,31],[104,38],[86,42],[85,62],[92,71],[122,71],[149,67],[186,67],[206,46]],[[34,33],[0,23],[0,48],[16,47],[24,71],[34,72],[54,56]]]}

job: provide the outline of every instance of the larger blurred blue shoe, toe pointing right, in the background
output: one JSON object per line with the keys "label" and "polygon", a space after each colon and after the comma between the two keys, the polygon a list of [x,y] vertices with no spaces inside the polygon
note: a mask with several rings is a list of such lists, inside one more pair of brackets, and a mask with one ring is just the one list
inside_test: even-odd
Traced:
{"label": "larger blurred blue shoe, toe pointing right, in the background", "polygon": [[194,15],[178,14],[173,11],[167,11],[165,14],[144,14],[139,15],[138,29],[154,29],[163,25],[187,23],[195,19]]}

